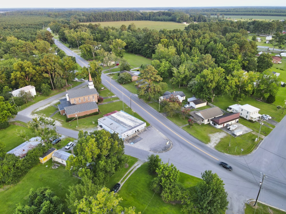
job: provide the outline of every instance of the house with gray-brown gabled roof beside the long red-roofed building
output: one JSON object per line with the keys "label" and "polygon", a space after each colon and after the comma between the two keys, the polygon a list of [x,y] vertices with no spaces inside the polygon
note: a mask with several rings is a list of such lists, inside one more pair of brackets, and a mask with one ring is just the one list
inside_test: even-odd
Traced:
{"label": "house with gray-brown gabled roof beside the long red-roofed building", "polygon": [[222,116],[223,112],[219,107],[212,107],[201,111],[193,111],[190,115],[198,124],[208,124],[211,119]]}

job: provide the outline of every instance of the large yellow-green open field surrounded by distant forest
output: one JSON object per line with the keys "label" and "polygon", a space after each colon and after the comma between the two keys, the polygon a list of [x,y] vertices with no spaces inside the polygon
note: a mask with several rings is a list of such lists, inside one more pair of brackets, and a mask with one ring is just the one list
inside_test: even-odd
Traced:
{"label": "large yellow-green open field surrounded by distant forest", "polygon": [[147,27],[150,30],[162,30],[162,29],[167,29],[167,30],[174,30],[174,29],[181,29],[183,30],[187,24],[181,24],[181,23],[176,23],[176,22],[159,22],[159,21],[121,21],[121,22],[86,22],[83,24],[100,24],[101,27],[116,27],[120,28],[121,25],[130,25],[131,23],[134,23],[136,28],[144,28]]}

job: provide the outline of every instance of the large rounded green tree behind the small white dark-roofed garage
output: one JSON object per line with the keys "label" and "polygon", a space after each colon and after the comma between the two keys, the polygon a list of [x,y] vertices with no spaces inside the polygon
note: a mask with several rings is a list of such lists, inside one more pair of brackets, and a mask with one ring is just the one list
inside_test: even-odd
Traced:
{"label": "large rounded green tree behind the small white dark-roofed garage", "polygon": [[196,76],[196,86],[192,92],[196,94],[196,97],[210,99],[213,102],[216,95],[224,93],[224,77],[224,69],[221,67],[203,70]]}

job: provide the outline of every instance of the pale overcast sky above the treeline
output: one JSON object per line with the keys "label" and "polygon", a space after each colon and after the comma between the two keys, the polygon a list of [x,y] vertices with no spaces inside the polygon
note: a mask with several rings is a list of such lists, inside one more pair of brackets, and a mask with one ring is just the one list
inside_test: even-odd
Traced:
{"label": "pale overcast sky above the treeline", "polygon": [[[275,3],[274,3],[275,2]],[[286,6],[286,1],[269,0],[204,0],[204,1],[172,1],[172,0],[106,0],[106,1],[7,1],[0,8],[98,8],[98,7],[223,7],[223,6]]]}

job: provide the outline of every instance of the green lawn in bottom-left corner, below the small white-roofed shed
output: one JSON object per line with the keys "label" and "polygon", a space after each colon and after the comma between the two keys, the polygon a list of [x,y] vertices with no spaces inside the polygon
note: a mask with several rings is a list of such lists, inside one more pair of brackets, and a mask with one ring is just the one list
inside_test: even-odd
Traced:
{"label": "green lawn in bottom-left corner, below the small white-roofed shed", "polygon": [[[52,160],[44,164],[39,163],[33,167],[19,183],[5,191],[2,189],[2,191],[0,191],[0,201],[2,201],[0,213],[13,213],[16,204],[19,202],[24,205],[27,204],[28,194],[31,188],[50,187],[65,204],[65,194],[68,193],[69,185],[75,185],[80,179],[69,176],[64,166],[60,166],[57,169],[52,169],[51,166]],[[69,213],[69,211],[65,210],[65,213]]]}

